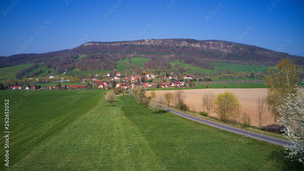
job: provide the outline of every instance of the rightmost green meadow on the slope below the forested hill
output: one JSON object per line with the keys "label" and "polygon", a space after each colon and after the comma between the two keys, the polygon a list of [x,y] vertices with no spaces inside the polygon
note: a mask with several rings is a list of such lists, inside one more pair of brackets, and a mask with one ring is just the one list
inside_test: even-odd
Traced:
{"label": "rightmost green meadow on the slope below the forested hill", "polygon": [[219,68],[225,70],[226,68],[234,71],[234,72],[251,72],[258,73],[259,71],[267,71],[268,66],[264,65],[241,65],[241,64],[227,64],[227,63],[217,63],[217,62],[210,62],[210,64],[214,65],[214,68]]}

